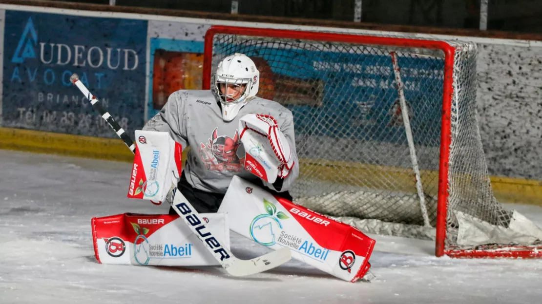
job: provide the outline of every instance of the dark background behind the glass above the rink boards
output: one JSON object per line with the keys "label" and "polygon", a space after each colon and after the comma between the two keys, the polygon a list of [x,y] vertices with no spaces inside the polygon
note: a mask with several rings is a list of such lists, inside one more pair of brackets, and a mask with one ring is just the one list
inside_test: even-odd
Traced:
{"label": "dark background behind the glass above the rink boards", "polygon": [[[109,4],[109,0],[69,2]],[[116,0],[115,5],[231,12],[231,0]],[[353,21],[354,0],[239,0],[238,13]],[[364,23],[478,29],[479,16],[480,0],[362,0]],[[542,0],[489,0],[487,29],[542,34]]]}

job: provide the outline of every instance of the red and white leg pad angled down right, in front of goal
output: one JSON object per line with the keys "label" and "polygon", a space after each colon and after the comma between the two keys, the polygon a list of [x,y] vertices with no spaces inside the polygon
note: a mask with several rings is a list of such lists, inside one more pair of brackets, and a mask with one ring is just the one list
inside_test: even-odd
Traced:
{"label": "red and white leg pad angled down right, in front of goal", "polygon": [[356,282],[370,268],[375,240],[358,229],[234,176],[219,213],[230,229],[272,249],[292,250],[292,257],[340,279]]}

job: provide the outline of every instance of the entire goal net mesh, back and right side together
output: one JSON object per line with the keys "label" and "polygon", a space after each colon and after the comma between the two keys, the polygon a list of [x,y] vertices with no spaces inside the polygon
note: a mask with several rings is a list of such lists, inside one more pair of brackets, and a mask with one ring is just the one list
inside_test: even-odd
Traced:
{"label": "entire goal net mesh, back and right side together", "polygon": [[[454,47],[448,247],[455,244],[454,210],[495,224],[509,221],[493,197],[476,121],[476,45]],[[258,96],[292,110],[300,158],[294,202],[351,224],[369,219],[364,232],[404,235],[404,227],[414,227],[410,236],[431,237],[420,231],[424,222],[402,111],[410,119],[434,227],[443,51],[225,34],[215,35],[212,50],[215,69],[235,52],[251,57],[261,73]],[[399,103],[391,51],[407,109]],[[385,222],[392,223],[387,232],[377,224]]]}

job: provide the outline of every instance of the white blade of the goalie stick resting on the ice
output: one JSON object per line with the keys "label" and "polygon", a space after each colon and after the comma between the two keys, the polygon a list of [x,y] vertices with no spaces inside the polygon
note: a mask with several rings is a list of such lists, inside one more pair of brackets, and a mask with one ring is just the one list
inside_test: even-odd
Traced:
{"label": "white blade of the goalie stick resting on the ice", "polygon": [[236,259],[228,267],[224,267],[226,271],[233,276],[245,276],[255,273],[264,272],[288,262],[292,259],[292,252],[289,248],[283,247],[268,254],[255,257],[251,260]]}

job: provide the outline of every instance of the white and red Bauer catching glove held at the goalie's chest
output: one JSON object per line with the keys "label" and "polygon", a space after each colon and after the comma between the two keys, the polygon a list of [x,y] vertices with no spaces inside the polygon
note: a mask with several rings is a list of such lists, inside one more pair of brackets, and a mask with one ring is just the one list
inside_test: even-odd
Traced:
{"label": "white and red Bauer catching glove held at the goalie's chest", "polygon": [[273,116],[247,114],[239,120],[239,130],[247,171],[269,183],[290,174],[294,167],[290,144]]}

